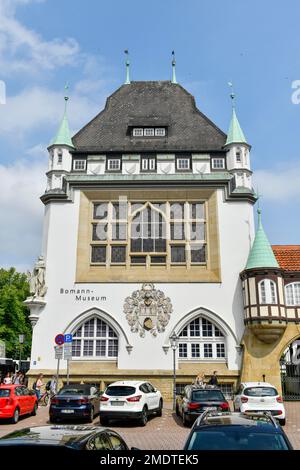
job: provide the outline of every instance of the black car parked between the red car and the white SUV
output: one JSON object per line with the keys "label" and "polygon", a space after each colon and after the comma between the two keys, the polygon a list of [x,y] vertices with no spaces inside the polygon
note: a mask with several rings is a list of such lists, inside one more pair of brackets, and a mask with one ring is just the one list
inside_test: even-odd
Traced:
{"label": "black car parked between the red car and the white SUV", "polygon": [[86,419],[92,423],[100,410],[101,392],[89,384],[65,385],[50,402],[51,423],[65,419]]}

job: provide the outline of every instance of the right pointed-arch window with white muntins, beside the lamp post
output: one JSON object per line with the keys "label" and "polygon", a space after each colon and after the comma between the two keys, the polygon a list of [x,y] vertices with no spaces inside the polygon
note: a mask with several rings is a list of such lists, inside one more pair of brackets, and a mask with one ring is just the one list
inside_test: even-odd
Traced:
{"label": "right pointed-arch window with white muntins, beside the lamp post", "polygon": [[179,359],[225,361],[226,344],[221,330],[206,318],[196,318],[179,334]]}

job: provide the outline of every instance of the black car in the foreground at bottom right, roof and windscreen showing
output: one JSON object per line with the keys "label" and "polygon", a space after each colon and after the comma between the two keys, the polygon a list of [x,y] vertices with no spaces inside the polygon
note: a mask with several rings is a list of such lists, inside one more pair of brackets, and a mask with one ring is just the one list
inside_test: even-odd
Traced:
{"label": "black car in the foreground at bottom right, roof and windscreen showing", "polygon": [[293,450],[271,414],[206,411],[194,423],[184,450]]}

